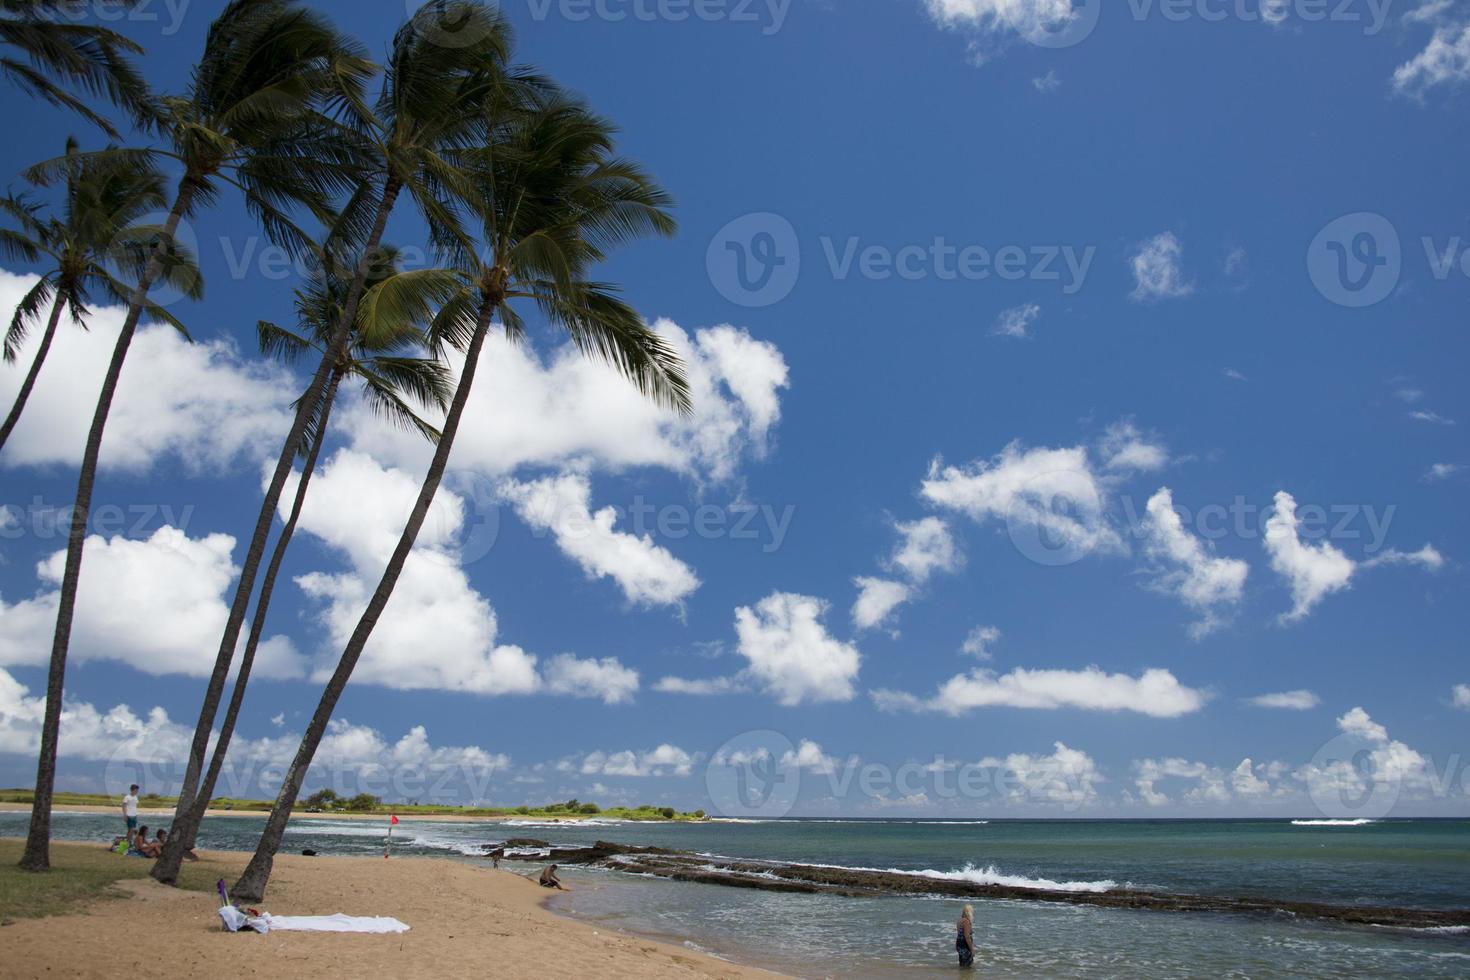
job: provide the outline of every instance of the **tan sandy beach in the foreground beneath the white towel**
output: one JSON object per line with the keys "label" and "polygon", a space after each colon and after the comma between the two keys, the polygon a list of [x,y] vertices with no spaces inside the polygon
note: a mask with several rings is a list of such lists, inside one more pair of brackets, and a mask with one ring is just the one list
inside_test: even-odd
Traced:
{"label": "tan sandy beach in the foreground beneath the white towel", "polygon": [[[53,842],[53,848],[97,845]],[[204,852],[232,870],[247,857]],[[119,858],[123,860],[123,858]],[[225,883],[229,884],[229,877]],[[0,929],[6,977],[772,977],[713,956],[562,918],[512,871],[434,858],[279,855],[262,908],[392,915],[403,934],[232,934],[219,899],[146,880],[76,914]]]}

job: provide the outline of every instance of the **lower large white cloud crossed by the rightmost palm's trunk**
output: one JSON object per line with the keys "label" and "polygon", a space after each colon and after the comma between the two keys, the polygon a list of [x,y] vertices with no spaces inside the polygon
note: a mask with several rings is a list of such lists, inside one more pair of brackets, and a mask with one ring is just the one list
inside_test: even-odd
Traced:
{"label": "lower large white cloud crossed by the rightmost palm's trunk", "polygon": [[[297,577],[319,602],[326,660],[316,679],[335,666],[376,588],[417,494],[417,479],[360,454],[341,451],[312,480],[301,530],[340,550],[347,572]],[[566,693],[620,704],[637,691],[638,674],[613,658],[553,658],[545,676],[537,657],[498,642],[498,620],[459,564],[456,542],[465,501],[441,488],[417,545],[353,673],[354,680],[400,691],[462,691],[478,695]]]}

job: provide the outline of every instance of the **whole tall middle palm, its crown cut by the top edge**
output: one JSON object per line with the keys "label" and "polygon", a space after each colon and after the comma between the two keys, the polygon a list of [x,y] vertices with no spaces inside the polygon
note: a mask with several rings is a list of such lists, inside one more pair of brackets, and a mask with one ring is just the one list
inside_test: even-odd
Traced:
{"label": "whole tall middle palm, its crown cut by the top edge", "polygon": [[[445,44],[444,25],[457,29],[451,44]],[[357,322],[368,264],[378,253],[388,217],[403,192],[413,198],[428,220],[435,245],[456,256],[466,250],[454,201],[467,188],[448,156],[465,147],[484,144],[485,103],[516,98],[522,88],[535,85],[534,76],[507,68],[510,47],[510,28],[494,10],[466,0],[434,0],[420,7],[394,35],[373,106],[368,106],[356,93],[343,98],[345,125],[356,135],[356,157],[365,170],[335,223],[323,259],[328,263],[338,262],[344,251],[343,242],[360,242],[362,260],[343,301],[341,322],[326,345],[328,357],[322,359],[306,389],[295,425],[281,447],[260,502],[184,768],[175,827],[184,821],[185,833],[169,835],[163,858],[153,865],[153,877],[159,882],[173,883],[178,879],[184,842],[193,835],[188,827],[191,813],[203,813],[203,807],[197,804],[207,804],[197,801],[198,779],[225,680],[244,629],[250,595],[281,495],[300,453],[306,423],[315,416],[329,367],[345,350],[351,325]]]}

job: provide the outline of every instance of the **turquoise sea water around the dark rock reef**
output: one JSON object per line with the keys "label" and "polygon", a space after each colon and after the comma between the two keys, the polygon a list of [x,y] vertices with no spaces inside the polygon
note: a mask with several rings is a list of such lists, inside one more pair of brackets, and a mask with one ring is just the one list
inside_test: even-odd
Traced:
{"label": "turquoise sea water around the dark rock reef", "polygon": [[[100,839],[118,820],[56,818],[57,837]],[[210,818],[206,848],[248,849],[259,817]],[[303,820],[287,849],[381,854],[385,827]],[[25,814],[0,814],[0,835]],[[394,830],[400,855],[482,861],[507,836],[557,845],[651,843],[729,857],[898,868],[1050,887],[1132,886],[1336,904],[1470,908],[1470,821],[1361,826],[1260,821],[764,821],[707,824],[426,823]],[[507,865],[516,867],[516,865]],[[529,870],[531,865],[520,865]],[[800,976],[933,976],[954,968],[956,902],[750,892],[570,870],[556,908]],[[1470,936],[1132,912],[1036,902],[976,904],[985,976],[1470,977]]]}

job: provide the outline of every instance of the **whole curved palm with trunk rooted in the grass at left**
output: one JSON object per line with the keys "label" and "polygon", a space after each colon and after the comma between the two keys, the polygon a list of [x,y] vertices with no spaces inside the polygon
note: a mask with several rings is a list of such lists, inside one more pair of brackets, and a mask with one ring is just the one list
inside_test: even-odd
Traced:
{"label": "whole curved palm with trunk rooted in the grass at left", "polygon": [[[325,219],[332,194],[353,185],[351,153],[332,140],[332,128],[316,109],[329,93],[350,91],[353,81],[362,79],[369,69],[353,43],[293,0],[231,0],[210,25],[204,54],[187,93],[163,100],[162,131],[169,145],[103,150],[79,157],[119,169],[143,169],[171,160],[182,169],[182,175],[168,217],[162,226],[151,229],[147,259],[141,262],[141,275],[87,433],[51,641],[35,804],[21,858],[24,868],[44,871],[50,867],[50,811],[62,685],[97,457],[118,378],[148,292],[181,262],[175,247],[179,222],[218,198],[222,185],[244,192],[247,209],[272,241],[293,254],[310,248],[310,238],[291,222],[291,209],[306,207]],[[37,165],[31,167],[29,178],[38,182],[54,179],[71,162],[72,157],[62,157]],[[301,419],[295,425],[304,428]]]}

